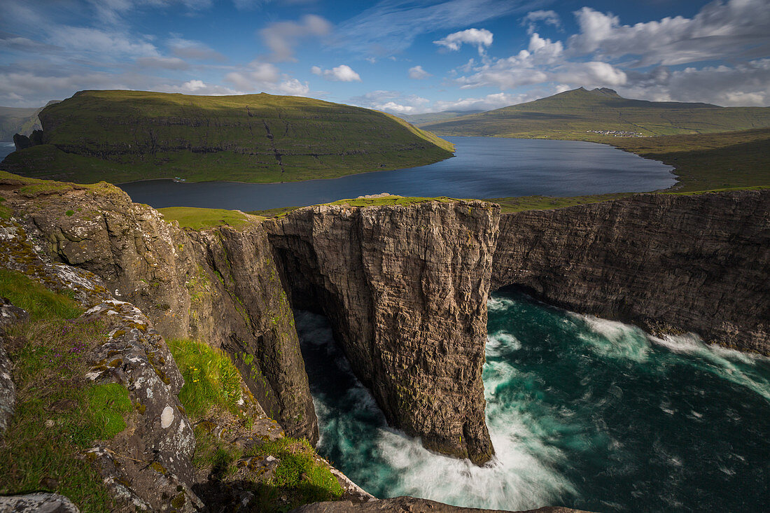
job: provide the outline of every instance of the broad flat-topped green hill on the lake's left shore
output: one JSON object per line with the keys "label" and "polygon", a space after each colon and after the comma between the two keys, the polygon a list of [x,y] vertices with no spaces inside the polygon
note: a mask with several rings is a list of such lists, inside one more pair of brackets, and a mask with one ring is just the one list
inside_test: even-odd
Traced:
{"label": "broad flat-topped green hill on the lake's left shore", "polygon": [[82,91],[39,117],[44,144],[12,153],[0,169],[80,183],[270,183],[421,166],[454,151],[383,112],[265,93]]}

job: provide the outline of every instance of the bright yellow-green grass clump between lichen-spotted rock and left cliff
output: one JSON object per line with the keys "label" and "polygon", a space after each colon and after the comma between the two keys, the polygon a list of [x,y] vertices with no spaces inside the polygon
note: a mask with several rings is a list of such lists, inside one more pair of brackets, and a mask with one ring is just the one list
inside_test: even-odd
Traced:
{"label": "bright yellow-green grass clump between lichen-spotted rock and left cliff", "polygon": [[223,350],[189,339],[167,342],[176,366],[185,378],[179,401],[192,418],[205,416],[214,407],[236,414],[240,374]]}

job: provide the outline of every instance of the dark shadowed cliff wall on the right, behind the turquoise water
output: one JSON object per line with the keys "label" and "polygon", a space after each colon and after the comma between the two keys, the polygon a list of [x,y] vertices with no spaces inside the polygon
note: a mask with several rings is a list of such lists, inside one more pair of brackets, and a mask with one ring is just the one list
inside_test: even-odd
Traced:
{"label": "dark shadowed cliff wall on the right, behind the turquoise water", "polygon": [[770,354],[770,191],[505,214],[492,288]]}

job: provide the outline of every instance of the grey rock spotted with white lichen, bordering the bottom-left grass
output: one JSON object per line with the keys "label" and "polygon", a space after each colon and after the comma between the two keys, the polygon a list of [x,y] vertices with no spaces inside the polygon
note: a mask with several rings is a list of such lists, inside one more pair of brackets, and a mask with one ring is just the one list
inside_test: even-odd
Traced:
{"label": "grey rock spotted with white lichen, bordering the bottom-left grass", "polygon": [[94,273],[45,260],[14,220],[0,220],[0,240],[7,249],[0,254],[2,267],[52,290],[68,290],[89,308],[80,322],[101,320],[112,328],[89,354],[92,367],[85,377],[125,386],[133,411],[125,430],[87,455],[119,509],[196,511],[202,503],[190,488],[195,439],[176,397],[184,381],[152,322],[132,304],[115,300]]}

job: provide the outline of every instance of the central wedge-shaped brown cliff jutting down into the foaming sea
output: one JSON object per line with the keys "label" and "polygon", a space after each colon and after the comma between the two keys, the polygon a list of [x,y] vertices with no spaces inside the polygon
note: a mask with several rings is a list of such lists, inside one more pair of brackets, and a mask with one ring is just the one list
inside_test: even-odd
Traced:
{"label": "central wedge-shaped brown cliff jutting down into the foaming sea", "polygon": [[499,207],[316,206],[266,223],[294,307],[322,310],[388,421],[477,464]]}

